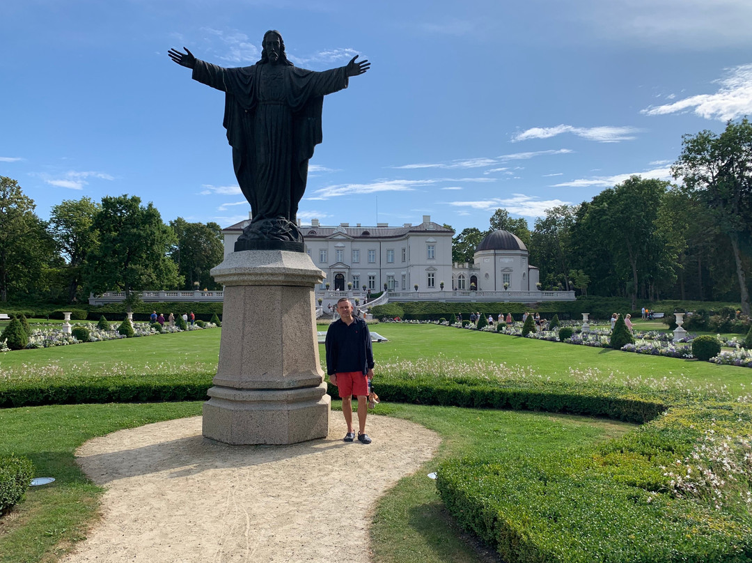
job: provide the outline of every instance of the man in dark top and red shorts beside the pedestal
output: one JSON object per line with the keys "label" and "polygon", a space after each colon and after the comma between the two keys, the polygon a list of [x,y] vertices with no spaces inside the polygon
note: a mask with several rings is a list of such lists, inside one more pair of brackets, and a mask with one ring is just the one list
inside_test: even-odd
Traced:
{"label": "man in dark top and red shorts beside the pedestal", "polygon": [[347,297],[337,302],[338,321],[326,331],[326,371],[329,381],[337,386],[342,399],[342,413],[347,422],[345,442],[355,440],[352,397],[358,397],[358,441],[371,443],[365,434],[368,414],[368,382],[374,376],[374,355],[371,333],[362,318],[353,317],[353,304]]}

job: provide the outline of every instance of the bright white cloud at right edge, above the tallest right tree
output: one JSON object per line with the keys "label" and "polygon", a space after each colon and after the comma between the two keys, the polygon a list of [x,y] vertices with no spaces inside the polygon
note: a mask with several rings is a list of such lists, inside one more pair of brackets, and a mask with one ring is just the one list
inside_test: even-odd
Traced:
{"label": "bright white cloud at right edge, above the tallest right tree", "polygon": [[705,119],[726,121],[752,113],[752,64],[726,68],[726,77],[714,81],[714,94],[699,94],[671,104],[650,106],[640,113],[666,115],[688,111]]}

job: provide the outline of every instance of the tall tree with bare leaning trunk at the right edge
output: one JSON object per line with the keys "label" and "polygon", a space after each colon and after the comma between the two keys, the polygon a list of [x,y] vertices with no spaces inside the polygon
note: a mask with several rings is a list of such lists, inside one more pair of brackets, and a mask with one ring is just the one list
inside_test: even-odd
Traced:
{"label": "tall tree with bare leaning trunk at the right edge", "polygon": [[752,245],[752,124],[744,118],[726,123],[720,135],[708,130],[684,135],[672,174],[682,178],[684,188],[705,205],[731,244],[741,311],[750,315],[747,271]]}

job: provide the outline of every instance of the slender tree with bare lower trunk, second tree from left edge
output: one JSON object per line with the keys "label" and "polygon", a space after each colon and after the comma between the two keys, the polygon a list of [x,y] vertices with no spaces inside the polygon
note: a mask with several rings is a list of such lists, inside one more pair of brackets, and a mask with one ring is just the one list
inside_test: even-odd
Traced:
{"label": "slender tree with bare lower trunk, second tree from left edge", "polygon": [[81,283],[83,261],[97,244],[93,228],[100,205],[88,197],[65,199],[54,205],[50,213],[50,234],[59,251],[68,261],[68,303],[74,303]]}

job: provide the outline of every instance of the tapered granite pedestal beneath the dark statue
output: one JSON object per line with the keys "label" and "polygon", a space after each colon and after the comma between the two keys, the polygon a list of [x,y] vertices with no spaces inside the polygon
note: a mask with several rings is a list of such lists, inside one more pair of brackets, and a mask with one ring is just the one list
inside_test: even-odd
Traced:
{"label": "tapered granite pedestal beneath the dark statue", "polygon": [[229,444],[291,444],[329,432],[308,254],[247,250],[211,270],[225,286],[220,361],[203,434]]}

